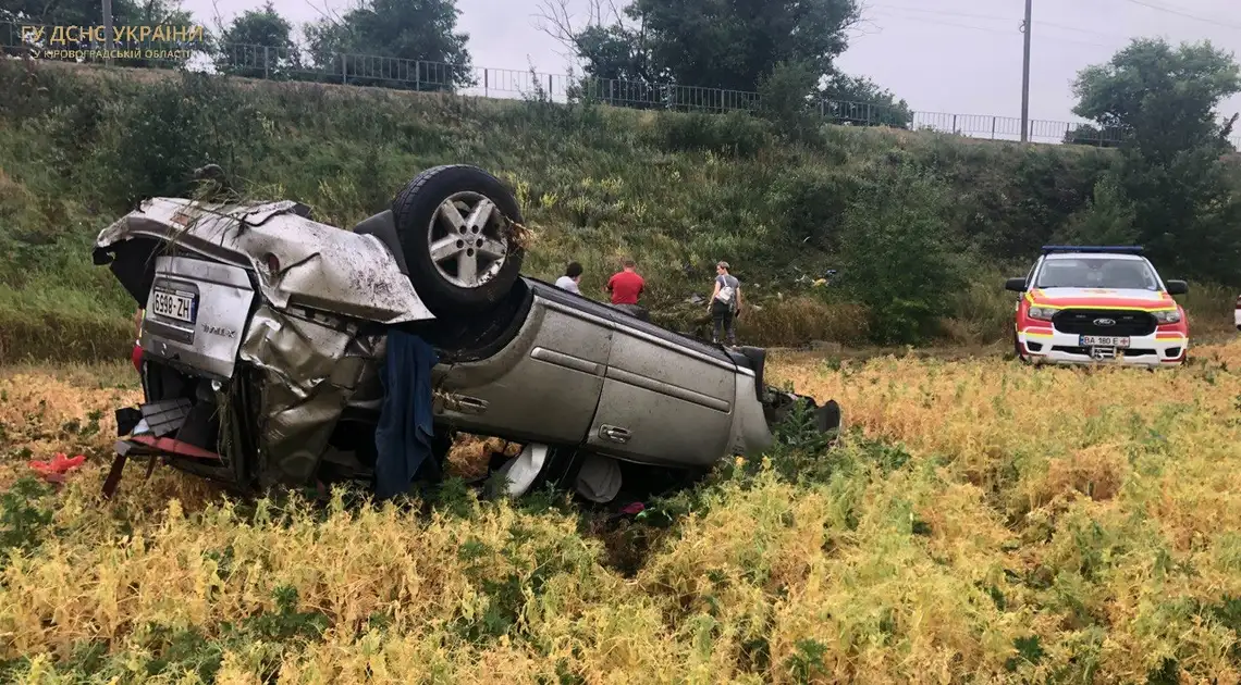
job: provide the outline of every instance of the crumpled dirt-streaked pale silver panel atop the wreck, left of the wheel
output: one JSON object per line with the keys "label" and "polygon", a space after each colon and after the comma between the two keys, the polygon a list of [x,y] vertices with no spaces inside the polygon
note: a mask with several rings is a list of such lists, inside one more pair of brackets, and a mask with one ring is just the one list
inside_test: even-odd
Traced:
{"label": "crumpled dirt-streaked pale silver panel atop the wreck, left of the wheel", "polygon": [[[292,201],[212,204],[158,197],[99,232],[97,248],[146,235],[258,274],[263,296],[382,323],[434,318],[374,235],[311,220]],[[279,263],[271,271],[267,255]]]}

